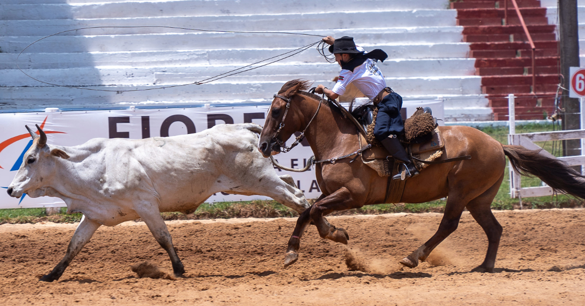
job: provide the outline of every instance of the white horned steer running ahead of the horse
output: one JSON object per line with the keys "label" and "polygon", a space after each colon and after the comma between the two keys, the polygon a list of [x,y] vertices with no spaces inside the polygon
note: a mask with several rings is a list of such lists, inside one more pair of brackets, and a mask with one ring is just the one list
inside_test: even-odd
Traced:
{"label": "white horned steer running ahead of the horse", "polygon": [[[139,140],[96,138],[80,146],[34,142],[8,187],[11,197],[61,198],[83,218],[63,260],[42,281],[59,279],[100,225],[141,218],[167,250],[174,274],[185,273],[160,212],[193,212],[216,192],[266,195],[302,212],[309,207],[290,176],[278,177],[256,149],[259,125],[216,125],[190,135]],[[254,133],[256,132],[256,133]]]}

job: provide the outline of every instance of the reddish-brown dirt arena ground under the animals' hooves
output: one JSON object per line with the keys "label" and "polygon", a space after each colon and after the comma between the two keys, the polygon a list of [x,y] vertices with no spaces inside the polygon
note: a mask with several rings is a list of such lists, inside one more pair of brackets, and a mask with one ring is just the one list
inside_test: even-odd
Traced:
{"label": "reddish-brown dirt arena ground under the animals' hooves", "polygon": [[[166,252],[142,223],[99,228],[54,283],[76,224],[0,225],[2,305],[584,305],[585,211],[497,212],[504,226],[497,273],[470,273],[487,239],[465,213],[459,228],[415,269],[398,260],[425,242],[441,214],[329,218],[349,245],[310,226],[297,263],[283,269],[294,219],[167,222],[185,264],[171,280]],[[349,271],[346,258],[364,271]],[[139,278],[133,265],[159,267]]]}

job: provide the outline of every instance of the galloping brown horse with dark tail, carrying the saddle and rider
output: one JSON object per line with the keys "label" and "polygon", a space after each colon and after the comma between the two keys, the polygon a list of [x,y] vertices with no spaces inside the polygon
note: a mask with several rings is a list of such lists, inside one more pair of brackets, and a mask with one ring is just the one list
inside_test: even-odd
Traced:
{"label": "galloping brown horse with dark tail, carrying the saddle and rider", "polygon": [[[264,157],[279,153],[279,143],[283,144],[292,133],[303,130],[316,160],[343,156],[359,149],[356,126],[344,118],[335,105],[302,91],[308,87],[308,81],[292,80],[284,84],[278,96],[275,95],[258,143]],[[286,100],[290,106],[288,111]],[[319,105],[322,105],[320,111]],[[447,158],[465,155],[472,158],[433,164],[419,176],[405,182],[400,202],[420,203],[447,197],[447,204],[435,235],[402,259],[400,263],[404,266],[412,268],[418,266],[419,260],[424,261],[439,243],[457,229],[463,209],[467,208],[488,239],[486,258],[473,270],[494,270],[502,226],[490,207],[504,180],[505,156],[508,156],[515,171],[526,176],[533,174],[555,191],[585,198],[585,177],[562,161],[522,146],[501,145],[480,130],[467,126],[442,126],[441,133]],[[316,164],[315,176],[323,194],[299,216],[288,240],[285,267],[297,261],[300,239],[309,222],[315,223],[321,238],[347,244],[347,232],[329,224],[324,216],[333,211],[384,202],[387,178],[378,176],[359,158],[352,163],[350,160],[346,158],[335,163]]]}

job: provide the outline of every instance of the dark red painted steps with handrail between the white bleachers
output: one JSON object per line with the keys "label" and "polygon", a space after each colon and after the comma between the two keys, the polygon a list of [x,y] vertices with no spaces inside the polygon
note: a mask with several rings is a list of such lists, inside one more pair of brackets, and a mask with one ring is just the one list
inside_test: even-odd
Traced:
{"label": "dark red painted steps with handrail between the white bleachers", "polygon": [[532,88],[532,50],[511,1],[508,25],[503,25],[504,1],[452,2],[463,40],[476,59],[476,75],[487,95],[494,120],[508,119],[508,94],[514,94],[516,119],[546,119],[552,114],[559,84],[559,56],[555,25],[538,0],[517,0],[535,43],[536,87]]}

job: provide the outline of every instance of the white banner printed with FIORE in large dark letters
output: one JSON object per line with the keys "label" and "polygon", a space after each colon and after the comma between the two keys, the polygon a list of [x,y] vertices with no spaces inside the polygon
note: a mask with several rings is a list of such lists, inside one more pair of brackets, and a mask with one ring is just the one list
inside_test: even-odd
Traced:
{"label": "white banner printed with FIORE in large dark letters", "polygon": [[[16,170],[22,164],[23,154],[32,144],[32,138],[25,129],[25,125],[33,130],[35,124],[41,126],[47,134],[47,143],[76,146],[97,137],[141,139],[183,135],[201,132],[221,123],[253,122],[264,125],[264,118],[266,118],[269,106],[234,105],[211,108],[149,108],[0,114],[0,191],[8,188]],[[441,100],[404,101],[403,108],[406,115],[410,116],[416,111],[417,106],[430,106],[433,109],[433,115],[438,119],[443,119],[443,102]],[[283,166],[299,169],[305,166],[311,156],[311,148],[305,140],[291,152],[278,154],[275,158]],[[321,195],[313,169],[304,173],[291,173],[280,169],[275,171],[279,175],[290,174],[297,186],[305,192],[307,198],[317,198]],[[222,192],[212,195],[207,202],[265,199],[269,198],[247,197]],[[0,192],[0,208],[65,206],[65,203],[59,198],[30,198],[23,195],[20,199],[16,199],[9,197],[6,192]]]}

